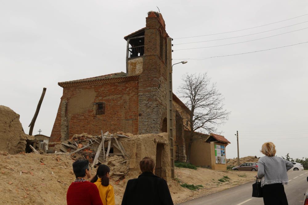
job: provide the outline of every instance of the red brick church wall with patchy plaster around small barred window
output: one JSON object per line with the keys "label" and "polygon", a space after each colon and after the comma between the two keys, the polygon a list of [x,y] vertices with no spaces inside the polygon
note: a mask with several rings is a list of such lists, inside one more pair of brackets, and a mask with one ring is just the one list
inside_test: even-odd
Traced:
{"label": "red brick church wall with patchy plaster around small barred window", "polygon": [[[96,115],[96,102],[105,103],[105,114]],[[64,87],[49,144],[74,134],[103,132],[138,133],[138,81]]]}

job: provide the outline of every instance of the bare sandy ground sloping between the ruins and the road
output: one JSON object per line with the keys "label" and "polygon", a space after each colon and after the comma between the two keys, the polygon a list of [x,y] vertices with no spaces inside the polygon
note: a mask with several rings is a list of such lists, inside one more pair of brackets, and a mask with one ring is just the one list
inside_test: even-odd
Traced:
{"label": "bare sandy ground sloping between the ruins and the road", "polygon": [[[116,164],[123,159],[115,156]],[[17,154],[0,152],[0,204],[66,204],[67,188],[75,175],[72,172],[73,160],[69,156],[54,154]],[[123,167],[127,165],[123,163]],[[122,169],[118,164],[111,170]],[[92,170],[95,175],[96,170]],[[168,182],[174,203],[181,203],[200,196],[208,195],[230,187],[254,180],[256,172],[245,171],[213,171],[206,168],[197,170],[176,168],[177,179]],[[115,190],[116,204],[121,199],[128,179],[136,178],[140,172],[130,171],[124,179],[112,176],[110,184]],[[228,176],[229,181],[221,183],[218,179]],[[181,187],[180,183],[203,185],[198,191]]]}

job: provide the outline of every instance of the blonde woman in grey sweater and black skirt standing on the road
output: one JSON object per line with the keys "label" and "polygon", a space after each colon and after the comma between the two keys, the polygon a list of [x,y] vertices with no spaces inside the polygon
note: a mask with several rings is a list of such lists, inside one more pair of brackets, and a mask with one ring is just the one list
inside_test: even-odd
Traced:
{"label": "blonde woman in grey sweater and black skirt standing on the road", "polygon": [[261,179],[263,202],[265,205],[287,205],[283,184],[288,184],[287,171],[293,164],[281,157],[275,156],[276,149],[272,142],[265,142],[261,152],[265,155],[258,161],[257,178]]}

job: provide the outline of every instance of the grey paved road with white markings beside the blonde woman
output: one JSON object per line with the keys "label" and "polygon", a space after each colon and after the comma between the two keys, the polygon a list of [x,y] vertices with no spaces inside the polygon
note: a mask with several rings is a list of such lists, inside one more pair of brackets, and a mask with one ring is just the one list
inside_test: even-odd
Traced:
{"label": "grey paved road with white markings beside the blonde woman", "polygon": [[[289,184],[285,186],[285,192],[290,205],[303,204],[304,193],[308,189],[307,176],[307,170],[288,171]],[[263,205],[263,198],[251,197],[253,183],[254,182],[249,182],[231,189],[219,191],[211,195],[181,203],[181,205]]]}

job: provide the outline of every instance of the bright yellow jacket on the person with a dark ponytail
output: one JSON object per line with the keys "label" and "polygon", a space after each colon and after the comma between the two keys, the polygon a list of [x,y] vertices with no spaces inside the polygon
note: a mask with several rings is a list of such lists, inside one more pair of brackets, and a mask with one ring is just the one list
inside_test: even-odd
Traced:
{"label": "bright yellow jacket on the person with a dark ponytail", "polygon": [[98,178],[94,184],[98,188],[103,205],[115,205],[115,192],[113,191],[112,185],[109,184],[107,187],[103,186],[102,179],[100,178]]}

